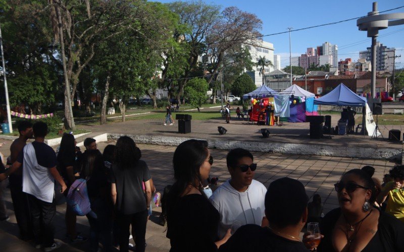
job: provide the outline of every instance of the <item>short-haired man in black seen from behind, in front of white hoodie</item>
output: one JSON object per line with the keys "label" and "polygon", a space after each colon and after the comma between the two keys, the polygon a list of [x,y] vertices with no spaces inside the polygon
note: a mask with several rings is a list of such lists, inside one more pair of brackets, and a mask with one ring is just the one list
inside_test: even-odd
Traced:
{"label": "short-haired man in black seen from behind, in front of white hoodie", "polygon": [[273,181],[265,196],[269,227],[242,226],[220,246],[219,251],[309,251],[299,238],[307,221],[308,202],[309,197],[301,182],[288,177]]}

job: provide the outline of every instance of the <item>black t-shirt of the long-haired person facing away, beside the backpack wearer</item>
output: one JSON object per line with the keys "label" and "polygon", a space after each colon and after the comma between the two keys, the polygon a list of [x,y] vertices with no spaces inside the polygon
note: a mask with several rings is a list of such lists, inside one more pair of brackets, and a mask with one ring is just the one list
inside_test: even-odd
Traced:
{"label": "black t-shirt of the long-haired person facing away, beside the backpack wearer", "polygon": [[111,183],[117,187],[117,209],[123,214],[135,214],[146,210],[142,182],[148,181],[150,173],[146,162],[137,161],[132,167],[112,165]]}

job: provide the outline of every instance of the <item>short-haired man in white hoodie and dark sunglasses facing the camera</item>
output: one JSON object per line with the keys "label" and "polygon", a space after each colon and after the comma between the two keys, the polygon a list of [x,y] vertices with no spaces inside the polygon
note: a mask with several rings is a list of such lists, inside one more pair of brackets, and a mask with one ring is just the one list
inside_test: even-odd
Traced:
{"label": "short-haired man in white hoodie and dark sunglasses facing the camera", "polygon": [[224,237],[236,220],[241,225],[268,225],[264,205],[267,188],[254,180],[257,169],[254,157],[249,151],[237,148],[227,154],[226,161],[231,178],[209,198],[220,214],[219,238]]}

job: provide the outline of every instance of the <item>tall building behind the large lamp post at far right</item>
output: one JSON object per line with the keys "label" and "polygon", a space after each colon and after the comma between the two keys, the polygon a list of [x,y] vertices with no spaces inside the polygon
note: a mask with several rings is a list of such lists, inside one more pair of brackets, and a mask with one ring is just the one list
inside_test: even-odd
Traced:
{"label": "tall building behind the large lamp post at far right", "polygon": [[[366,51],[359,52],[359,58],[364,58],[368,61],[372,60],[372,47],[366,48]],[[380,42],[376,42],[376,71],[393,72],[393,57],[395,48],[387,48]],[[373,66],[372,66],[373,67]]]}

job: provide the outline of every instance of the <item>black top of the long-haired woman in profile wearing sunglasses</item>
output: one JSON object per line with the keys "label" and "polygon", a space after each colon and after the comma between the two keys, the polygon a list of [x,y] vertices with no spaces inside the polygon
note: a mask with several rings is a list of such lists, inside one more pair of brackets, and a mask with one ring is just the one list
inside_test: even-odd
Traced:
{"label": "black top of the long-haired woman in profile wearing sunglasses", "polygon": [[167,238],[171,250],[216,251],[220,215],[205,196],[190,194],[181,197],[167,214]]}

